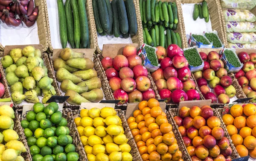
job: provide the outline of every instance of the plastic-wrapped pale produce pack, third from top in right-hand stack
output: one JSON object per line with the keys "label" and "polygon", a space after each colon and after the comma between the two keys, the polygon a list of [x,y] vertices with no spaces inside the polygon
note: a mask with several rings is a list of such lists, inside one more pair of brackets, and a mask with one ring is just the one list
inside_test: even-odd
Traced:
{"label": "plastic-wrapped pale produce pack, third from top in right-hand stack", "polygon": [[256,26],[251,22],[226,22],[227,32],[256,32]]}

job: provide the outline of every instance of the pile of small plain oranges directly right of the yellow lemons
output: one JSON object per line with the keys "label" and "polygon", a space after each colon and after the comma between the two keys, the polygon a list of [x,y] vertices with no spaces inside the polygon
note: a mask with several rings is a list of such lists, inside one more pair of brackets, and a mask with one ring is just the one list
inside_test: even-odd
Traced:
{"label": "pile of small plain oranges directly right of the yellow lemons", "polygon": [[140,102],[127,123],[143,161],[183,161],[172,125],[156,99]]}

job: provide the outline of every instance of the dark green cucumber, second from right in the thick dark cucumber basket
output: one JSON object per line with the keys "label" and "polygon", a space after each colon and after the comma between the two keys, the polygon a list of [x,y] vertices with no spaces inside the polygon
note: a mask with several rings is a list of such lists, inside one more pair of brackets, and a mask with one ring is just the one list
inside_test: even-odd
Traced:
{"label": "dark green cucumber, second from right in the thick dark cucumber basket", "polygon": [[128,18],[127,18],[124,1],[116,0],[116,7],[118,11],[117,13],[118,13],[120,31],[123,34],[127,34],[127,32],[129,31],[129,24],[128,24]]}

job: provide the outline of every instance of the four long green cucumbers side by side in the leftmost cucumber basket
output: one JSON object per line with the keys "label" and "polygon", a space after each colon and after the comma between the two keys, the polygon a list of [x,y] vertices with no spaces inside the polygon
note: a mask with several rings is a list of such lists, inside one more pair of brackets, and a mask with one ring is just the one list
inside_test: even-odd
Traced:
{"label": "four long green cucumbers side by side in the leftmost cucumber basket", "polygon": [[57,0],[62,48],[90,48],[85,0]]}

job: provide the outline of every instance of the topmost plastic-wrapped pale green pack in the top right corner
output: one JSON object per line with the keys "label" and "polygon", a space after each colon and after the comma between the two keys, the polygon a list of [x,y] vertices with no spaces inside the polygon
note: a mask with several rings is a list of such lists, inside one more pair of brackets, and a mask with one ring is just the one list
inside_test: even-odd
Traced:
{"label": "topmost plastic-wrapped pale green pack in the top right corner", "polygon": [[251,10],[256,6],[256,0],[221,0],[223,9],[246,9]]}

